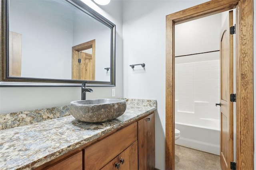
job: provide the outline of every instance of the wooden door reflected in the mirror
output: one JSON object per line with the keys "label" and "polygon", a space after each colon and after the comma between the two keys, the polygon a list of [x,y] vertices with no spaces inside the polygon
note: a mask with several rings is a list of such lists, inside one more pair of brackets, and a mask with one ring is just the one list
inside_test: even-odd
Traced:
{"label": "wooden door reflected in the mirror", "polygon": [[95,80],[95,64],[92,54],[80,51],[80,80]]}

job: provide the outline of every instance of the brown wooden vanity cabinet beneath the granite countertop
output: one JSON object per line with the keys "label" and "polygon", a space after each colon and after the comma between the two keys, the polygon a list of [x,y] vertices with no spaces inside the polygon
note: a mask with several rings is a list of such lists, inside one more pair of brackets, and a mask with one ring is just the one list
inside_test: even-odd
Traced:
{"label": "brown wooden vanity cabinet beneath the granite countertop", "polygon": [[96,141],[77,148],[37,170],[153,170],[155,167],[154,112]]}

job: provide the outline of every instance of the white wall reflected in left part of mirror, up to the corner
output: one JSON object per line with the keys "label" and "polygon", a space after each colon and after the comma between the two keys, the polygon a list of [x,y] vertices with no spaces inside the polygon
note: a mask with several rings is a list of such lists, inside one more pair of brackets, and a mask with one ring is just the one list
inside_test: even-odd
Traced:
{"label": "white wall reflected in left part of mirror, up to the corner", "polygon": [[10,31],[22,35],[21,76],[71,79],[73,24],[52,15],[63,10],[70,11],[58,4],[10,1]]}

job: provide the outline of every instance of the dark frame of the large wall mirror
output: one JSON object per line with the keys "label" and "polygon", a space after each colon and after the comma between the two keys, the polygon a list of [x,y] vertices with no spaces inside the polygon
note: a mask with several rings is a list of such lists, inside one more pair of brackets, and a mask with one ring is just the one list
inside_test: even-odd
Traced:
{"label": "dark frame of the large wall mirror", "polygon": [[[82,10],[92,18],[110,28],[110,82],[88,81],[88,86],[114,87],[116,85],[116,25],[108,19],[101,16],[98,12],[92,10],[89,6],[80,0],[66,0],[71,5]],[[0,0],[0,87],[10,86],[81,86],[86,80],[68,80],[68,79],[46,79],[46,78],[26,78],[10,77],[8,68],[9,57],[9,0]]]}

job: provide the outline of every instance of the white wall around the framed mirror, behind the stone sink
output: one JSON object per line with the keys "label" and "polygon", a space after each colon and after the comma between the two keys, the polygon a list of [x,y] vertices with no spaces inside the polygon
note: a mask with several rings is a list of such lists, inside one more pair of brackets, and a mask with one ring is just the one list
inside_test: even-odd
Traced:
{"label": "white wall around the framed mirror, behind the stone sink", "polygon": [[[104,10],[90,0],[91,8],[116,24],[116,97],[123,96],[122,78],[122,2],[112,1]],[[111,87],[93,87],[87,98],[112,98]],[[67,105],[81,99],[80,87],[0,87],[0,113]]]}

